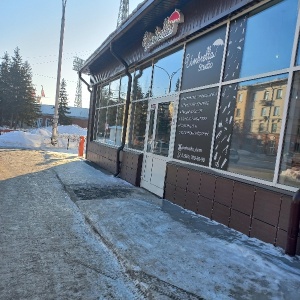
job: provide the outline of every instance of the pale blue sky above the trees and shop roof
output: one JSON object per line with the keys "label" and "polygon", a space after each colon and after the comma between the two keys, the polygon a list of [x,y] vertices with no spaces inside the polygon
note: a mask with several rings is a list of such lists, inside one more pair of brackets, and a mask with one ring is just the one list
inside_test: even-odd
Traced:
{"label": "pale blue sky above the trees and shop roof", "polygon": [[[129,0],[129,13],[142,0]],[[67,0],[61,77],[67,80],[69,104],[75,98],[74,56],[87,59],[115,30],[120,0]],[[37,94],[43,85],[43,104],[54,104],[62,17],[61,0],[0,0],[0,55],[20,48],[32,67]],[[89,105],[85,85],[83,107]]]}

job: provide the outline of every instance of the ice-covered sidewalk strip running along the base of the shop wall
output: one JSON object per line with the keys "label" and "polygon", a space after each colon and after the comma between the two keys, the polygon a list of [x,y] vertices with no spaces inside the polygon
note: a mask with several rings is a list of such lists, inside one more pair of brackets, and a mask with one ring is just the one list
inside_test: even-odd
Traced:
{"label": "ice-covered sidewalk strip running along the base of the shop wall", "polygon": [[80,166],[81,179],[68,165],[56,172],[146,298],[300,298],[299,257],[291,259],[282,249],[249,239],[87,164]]}

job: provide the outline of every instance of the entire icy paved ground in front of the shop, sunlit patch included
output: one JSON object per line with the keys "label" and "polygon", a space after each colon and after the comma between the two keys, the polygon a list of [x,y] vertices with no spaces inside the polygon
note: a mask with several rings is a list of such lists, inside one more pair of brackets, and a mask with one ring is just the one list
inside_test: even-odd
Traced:
{"label": "entire icy paved ground in front of the shop, sunlit patch included", "polygon": [[0,179],[1,300],[300,299],[299,257],[84,159],[6,150]]}

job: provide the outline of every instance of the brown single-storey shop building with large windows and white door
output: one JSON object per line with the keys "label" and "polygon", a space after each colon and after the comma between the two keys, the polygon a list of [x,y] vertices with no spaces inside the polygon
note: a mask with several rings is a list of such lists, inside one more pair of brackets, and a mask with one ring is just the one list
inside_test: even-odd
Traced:
{"label": "brown single-storey shop building with large windows and white door", "polygon": [[299,20],[297,0],[145,0],[80,71],[87,159],[285,248],[300,183]]}

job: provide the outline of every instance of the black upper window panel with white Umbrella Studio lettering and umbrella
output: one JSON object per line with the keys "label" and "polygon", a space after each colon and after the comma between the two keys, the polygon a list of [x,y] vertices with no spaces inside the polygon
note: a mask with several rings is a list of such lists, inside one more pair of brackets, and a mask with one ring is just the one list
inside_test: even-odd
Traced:
{"label": "black upper window panel with white Umbrella Studio lettering and umbrella", "polygon": [[223,26],[187,44],[182,90],[219,82],[225,33],[226,28]]}

